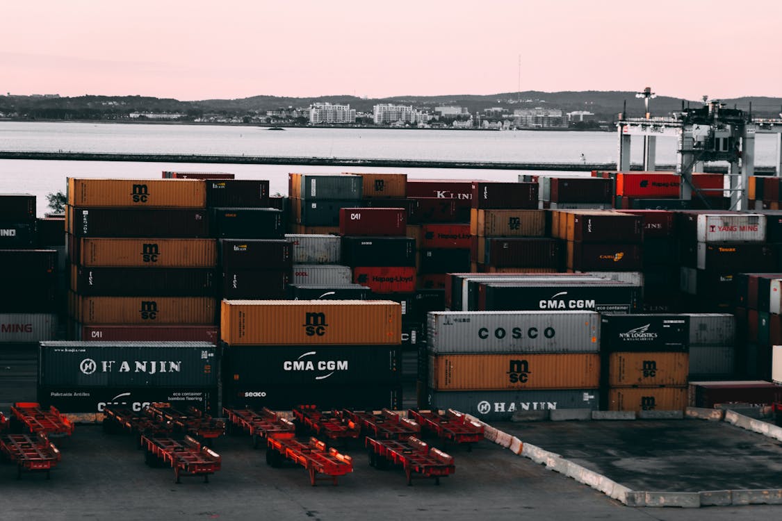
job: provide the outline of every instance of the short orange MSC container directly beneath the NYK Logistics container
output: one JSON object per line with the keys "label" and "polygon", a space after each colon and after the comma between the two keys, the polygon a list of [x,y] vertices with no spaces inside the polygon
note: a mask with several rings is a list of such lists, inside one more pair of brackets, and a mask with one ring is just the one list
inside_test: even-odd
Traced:
{"label": "short orange MSC container directly beneath the NYK Logistics container", "polygon": [[618,352],[608,358],[611,387],[687,385],[690,355],[672,352]]}

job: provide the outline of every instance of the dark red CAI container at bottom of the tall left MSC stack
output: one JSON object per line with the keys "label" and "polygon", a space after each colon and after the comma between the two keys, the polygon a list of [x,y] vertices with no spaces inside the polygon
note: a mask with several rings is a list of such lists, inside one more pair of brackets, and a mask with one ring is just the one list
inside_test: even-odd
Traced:
{"label": "dark red CAI container at bottom of the tall left MSC stack", "polygon": [[215,326],[115,326],[81,325],[81,341],[103,342],[208,342],[217,344],[220,334]]}

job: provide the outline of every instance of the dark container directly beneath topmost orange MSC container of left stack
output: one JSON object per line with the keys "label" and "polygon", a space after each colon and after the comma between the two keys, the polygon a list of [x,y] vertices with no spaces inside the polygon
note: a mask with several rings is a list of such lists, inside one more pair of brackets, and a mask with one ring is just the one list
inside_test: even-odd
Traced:
{"label": "dark container directly beneath topmost orange MSC container of left stack", "polygon": [[79,208],[68,206],[75,237],[211,237],[208,210],[179,208]]}

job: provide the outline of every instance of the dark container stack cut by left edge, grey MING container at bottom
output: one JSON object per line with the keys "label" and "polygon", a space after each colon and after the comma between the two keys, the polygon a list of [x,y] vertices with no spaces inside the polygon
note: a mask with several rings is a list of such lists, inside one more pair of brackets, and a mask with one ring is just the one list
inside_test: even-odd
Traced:
{"label": "dark container stack cut by left edge, grey MING container at bottom", "polygon": [[0,194],[0,344],[56,338],[58,254],[36,249],[35,216],[34,195]]}

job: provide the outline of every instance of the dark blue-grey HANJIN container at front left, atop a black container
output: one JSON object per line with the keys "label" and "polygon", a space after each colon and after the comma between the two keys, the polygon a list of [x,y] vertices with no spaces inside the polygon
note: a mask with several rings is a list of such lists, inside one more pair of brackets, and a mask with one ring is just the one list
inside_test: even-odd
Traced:
{"label": "dark blue-grey HANJIN container at front left, atop a black container", "polygon": [[43,387],[209,387],[217,347],[206,342],[41,342]]}

